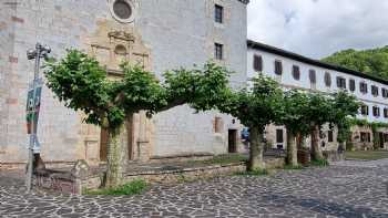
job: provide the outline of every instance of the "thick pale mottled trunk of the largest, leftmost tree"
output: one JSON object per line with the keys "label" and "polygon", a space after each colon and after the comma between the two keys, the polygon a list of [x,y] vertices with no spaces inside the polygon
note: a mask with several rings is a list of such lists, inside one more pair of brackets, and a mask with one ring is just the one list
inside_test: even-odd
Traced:
{"label": "thick pale mottled trunk of the largest, leftmost tree", "polygon": [[122,184],[126,166],[127,134],[126,125],[112,131],[108,129],[106,174],[103,187],[115,187]]}

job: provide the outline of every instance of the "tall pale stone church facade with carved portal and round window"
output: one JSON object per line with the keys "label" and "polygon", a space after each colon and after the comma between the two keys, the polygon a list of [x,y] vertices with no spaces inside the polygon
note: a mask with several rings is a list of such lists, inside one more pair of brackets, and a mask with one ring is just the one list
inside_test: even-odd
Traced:
{"label": "tall pale stone church facade with carved portal and round window", "polygon": [[[0,0],[0,164],[27,159],[25,98],[33,62],[25,51],[37,42],[54,58],[75,48],[94,55],[120,77],[118,64],[140,63],[159,76],[214,59],[246,81],[248,0]],[[152,120],[135,115],[129,157],[221,154],[237,149],[239,124],[217,112],[195,114],[178,106]],[[82,123],[43,89],[39,121],[45,162],[105,158],[104,133]]]}

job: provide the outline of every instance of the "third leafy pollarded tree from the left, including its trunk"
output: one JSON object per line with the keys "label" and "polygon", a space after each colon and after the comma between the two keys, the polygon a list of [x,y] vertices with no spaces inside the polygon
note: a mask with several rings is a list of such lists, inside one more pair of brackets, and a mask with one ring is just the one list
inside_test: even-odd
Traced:
{"label": "third leafy pollarded tree from the left, including its trunk", "polygon": [[297,166],[297,144],[296,136],[308,135],[310,124],[308,118],[309,94],[292,90],[287,91],[283,100],[282,114],[277,124],[287,128],[287,158],[290,166]]}

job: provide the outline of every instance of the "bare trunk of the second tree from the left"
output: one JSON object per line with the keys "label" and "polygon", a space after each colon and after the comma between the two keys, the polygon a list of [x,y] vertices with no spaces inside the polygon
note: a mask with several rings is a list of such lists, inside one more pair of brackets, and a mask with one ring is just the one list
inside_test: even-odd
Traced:
{"label": "bare trunk of the second tree from the left", "polygon": [[249,162],[248,170],[261,170],[265,168],[265,163],[263,160],[263,131],[257,127],[249,128],[251,134],[251,149],[249,149]]}

